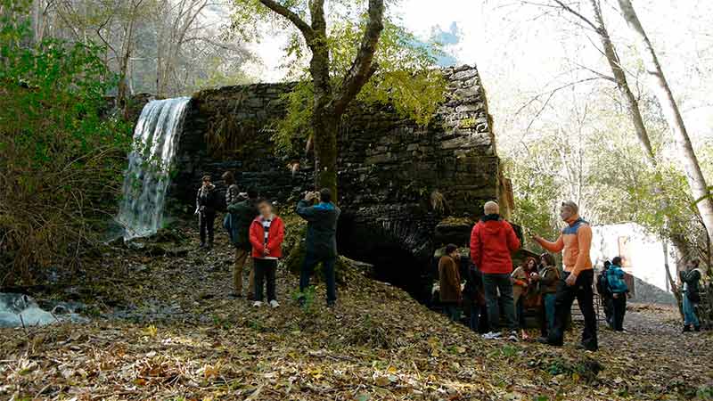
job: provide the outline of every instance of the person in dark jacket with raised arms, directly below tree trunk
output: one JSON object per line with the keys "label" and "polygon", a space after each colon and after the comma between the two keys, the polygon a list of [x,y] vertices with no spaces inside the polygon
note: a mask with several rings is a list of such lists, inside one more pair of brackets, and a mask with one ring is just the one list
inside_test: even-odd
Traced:
{"label": "person in dark jacket with raised arms, directly below tree trunk", "polygon": [[[316,199],[319,203],[312,205]],[[307,192],[305,199],[297,204],[297,214],[307,220],[307,251],[299,274],[299,291],[304,294],[315,266],[322,262],[328,307],[333,307],[337,301],[334,264],[337,261],[337,221],[340,213],[341,210],[332,203],[332,191],[328,188]],[[300,304],[304,301],[304,296],[301,296]]]}

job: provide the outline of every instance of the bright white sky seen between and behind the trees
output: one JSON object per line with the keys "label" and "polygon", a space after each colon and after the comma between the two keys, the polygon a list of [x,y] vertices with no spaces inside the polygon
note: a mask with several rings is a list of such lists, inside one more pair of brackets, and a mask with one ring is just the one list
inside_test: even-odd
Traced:
{"label": "bright white sky seen between and behind the trees", "polygon": [[[528,2],[401,0],[391,12],[424,41],[434,30],[449,41],[457,41],[446,46],[450,56],[445,61],[477,65],[488,90],[491,113],[503,122],[501,127],[521,129],[512,117],[512,110],[517,109],[513,99],[591,76],[580,66],[609,72],[591,42],[591,34],[586,35],[561,16],[545,14],[543,8],[524,3]],[[636,63],[634,42],[615,3],[602,0],[608,29],[622,57]],[[713,90],[713,1],[638,0],[635,6],[692,135],[713,137],[713,101],[708,99]],[[250,45],[261,60],[251,66],[250,72],[262,82],[280,81],[286,73],[280,68],[286,36],[271,29],[265,31],[260,43]],[[645,82],[643,79],[642,85]]]}

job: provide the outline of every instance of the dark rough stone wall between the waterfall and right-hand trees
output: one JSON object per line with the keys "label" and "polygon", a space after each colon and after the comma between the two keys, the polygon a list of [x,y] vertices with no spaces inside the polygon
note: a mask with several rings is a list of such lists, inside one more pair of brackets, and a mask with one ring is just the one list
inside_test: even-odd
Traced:
{"label": "dark rough stone wall between the waterfall and right-hand trees", "polygon": [[[444,74],[447,98],[428,127],[400,117],[389,105],[355,105],[340,126],[340,251],[377,268],[390,265],[393,274],[386,274],[386,281],[410,280],[405,276],[428,265],[440,245],[435,227],[444,217],[478,216],[485,201],[502,196],[478,71],[462,66]],[[218,177],[225,170],[236,173],[242,188],[255,186],[290,206],[311,189],[311,155],[276,158],[271,140],[275,122],[285,114],[281,95],[292,87],[229,86],[194,96],[170,190],[179,205],[192,210],[203,174],[223,188]],[[301,168],[293,172],[288,164],[297,161]]]}

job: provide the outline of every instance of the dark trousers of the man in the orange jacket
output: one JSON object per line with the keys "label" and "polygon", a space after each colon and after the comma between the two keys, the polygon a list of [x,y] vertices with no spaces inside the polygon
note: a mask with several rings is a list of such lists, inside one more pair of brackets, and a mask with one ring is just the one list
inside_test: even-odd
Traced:
{"label": "dark trousers of the man in the orange jacket", "polygon": [[557,284],[557,295],[554,300],[554,327],[548,335],[548,341],[553,345],[562,345],[564,329],[572,309],[574,299],[577,299],[579,310],[585,318],[585,328],[582,331],[582,345],[590,350],[599,348],[596,339],[596,315],[594,315],[594,270],[585,270],[577,276],[575,285],[569,286],[564,281],[570,275],[564,272]]}

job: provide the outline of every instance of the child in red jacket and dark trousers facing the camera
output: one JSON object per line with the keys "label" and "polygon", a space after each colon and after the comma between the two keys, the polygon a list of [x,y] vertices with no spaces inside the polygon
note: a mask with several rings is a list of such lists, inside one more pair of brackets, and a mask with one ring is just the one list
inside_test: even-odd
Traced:
{"label": "child in red jacket and dark trousers facing the camera", "polygon": [[273,214],[269,201],[258,201],[258,210],[259,216],[250,225],[250,244],[255,261],[255,303],[252,305],[262,306],[263,282],[266,281],[267,301],[270,307],[279,307],[275,298],[275,271],[277,259],[283,256],[284,224]]}

